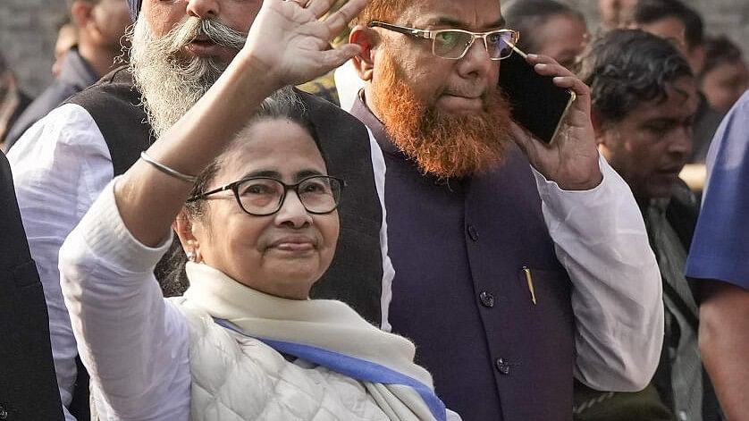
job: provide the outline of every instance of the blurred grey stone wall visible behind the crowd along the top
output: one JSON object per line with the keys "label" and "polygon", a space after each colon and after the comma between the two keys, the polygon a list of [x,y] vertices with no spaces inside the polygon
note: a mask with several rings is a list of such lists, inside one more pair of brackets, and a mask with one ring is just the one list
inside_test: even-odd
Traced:
{"label": "blurred grey stone wall visible behind the crowd along the top", "polygon": [[[596,0],[566,1],[585,13],[590,28],[598,27]],[[685,1],[703,13],[708,33],[728,34],[749,56],[749,0]],[[0,0],[0,52],[29,94],[37,95],[51,80],[56,26],[64,11],[64,0]]]}

